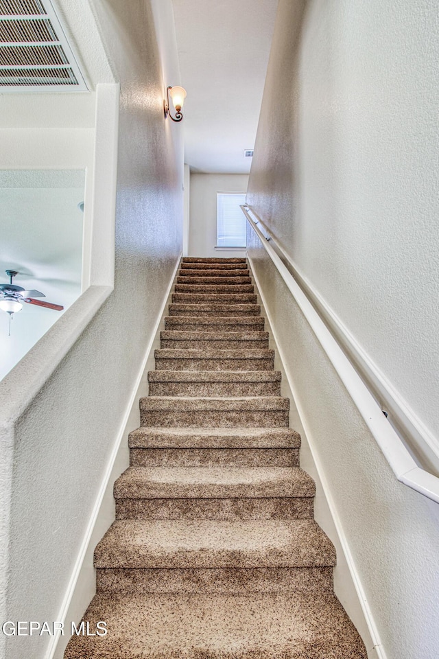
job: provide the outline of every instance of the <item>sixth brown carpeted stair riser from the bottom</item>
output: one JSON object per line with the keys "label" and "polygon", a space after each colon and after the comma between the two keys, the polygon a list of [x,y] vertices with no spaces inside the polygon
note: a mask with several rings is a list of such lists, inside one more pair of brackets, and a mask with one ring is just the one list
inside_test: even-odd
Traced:
{"label": "sixth brown carpeted stair riser from the bottom", "polygon": [[156,369],[157,371],[272,371],[274,369],[274,358],[184,359],[156,357]]}

